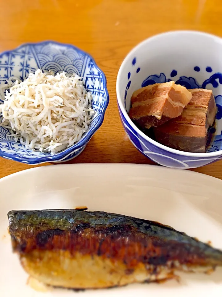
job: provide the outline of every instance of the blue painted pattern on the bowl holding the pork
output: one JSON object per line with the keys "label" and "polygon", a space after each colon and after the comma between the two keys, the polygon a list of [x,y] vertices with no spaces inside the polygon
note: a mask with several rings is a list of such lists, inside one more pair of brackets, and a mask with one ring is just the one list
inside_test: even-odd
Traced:
{"label": "blue painted pattern on the bowl holding the pork", "polygon": [[[136,58],[134,58],[134,61],[136,61]],[[136,63],[132,63],[133,67]],[[137,68],[137,67],[135,67]],[[194,71],[200,71],[200,68],[198,66],[194,66]],[[206,68],[207,72],[212,72],[211,67]],[[171,71],[171,77],[174,77],[177,75],[177,71],[174,69]],[[128,80],[130,81],[130,76],[128,75]],[[159,75],[149,75],[145,80],[143,80],[141,87],[146,87],[150,84],[155,83],[165,83],[171,81],[171,78],[167,78],[164,73],[160,73]],[[199,84],[194,77],[187,77],[187,76],[180,76],[178,80],[175,81],[176,84],[180,84],[185,86],[187,89],[193,89],[193,88],[207,88],[208,85],[211,84],[211,88],[217,88],[218,82],[222,84],[222,73],[214,73],[212,74],[209,79],[205,80],[202,84]],[[131,84],[131,82],[130,82]],[[127,91],[130,87],[129,82],[125,89],[125,100],[127,96]],[[215,97],[216,105],[218,108],[218,112],[216,115],[216,119],[222,118],[222,96],[218,95]],[[222,153],[219,156],[216,157],[209,157],[209,158],[203,158],[203,157],[190,157],[190,156],[183,156],[176,153],[171,153],[165,149],[159,148],[156,145],[153,145],[143,137],[141,137],[135,129],[130,126],[127,121],[124,118],[124,115],[121,112],[121,109],[119,108],[121,121],[123,124],[123,127],[125,129],[125,132],[127,136],[129,137],[130,141],[136,146],[136,148],[143,153],[146,157],[149,157],[152,161],[155,161],[156,163],[160,165],[164,165],[171,168],[196,168],[200,166],[204,166],[206,164],[210,163],[220,159],[222,157]],[[209,153],[216,152],[222,150],[222,131],[219,135],[215,135],[213,138],[213,141],[211,145],[208,148]]]}

